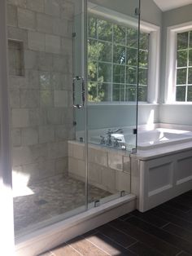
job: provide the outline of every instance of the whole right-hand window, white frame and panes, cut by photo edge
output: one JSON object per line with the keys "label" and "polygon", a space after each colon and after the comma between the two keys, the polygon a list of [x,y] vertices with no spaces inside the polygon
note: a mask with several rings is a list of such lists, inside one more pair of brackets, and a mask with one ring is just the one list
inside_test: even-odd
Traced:
{"label": "whole right-hand window, white frame and panes, cut by photo edge", "polygon": [[165,104],[192,102],[192,22],[168,27]]}

